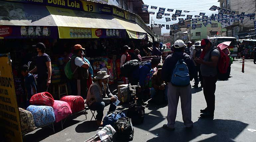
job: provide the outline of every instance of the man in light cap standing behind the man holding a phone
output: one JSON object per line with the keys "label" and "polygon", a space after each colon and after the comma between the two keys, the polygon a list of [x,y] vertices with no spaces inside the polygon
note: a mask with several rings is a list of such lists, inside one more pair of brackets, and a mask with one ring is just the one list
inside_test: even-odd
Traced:
{"label": "man in light cap standing behind the man holding a phone", "polygon": [[200,42],[195,42],[194,47],[195,47],[195,49],[193,49],[193,51],[192,51],[192,54],[193,54],[192,59],[193,59],[194,65],[195,65],[196,72],[195,72],[195,76],[194,76],[195,83],[192,87],[198,88],[198,84],[199,84],[198,73],[199,73],[199,79],[201,82],[201,87],[203,87],[203,79],[202,79],[202,75],[201,75],[200,64],[195,62],[194,59],[195,59],[195,57],[199,58],[202,53]]}

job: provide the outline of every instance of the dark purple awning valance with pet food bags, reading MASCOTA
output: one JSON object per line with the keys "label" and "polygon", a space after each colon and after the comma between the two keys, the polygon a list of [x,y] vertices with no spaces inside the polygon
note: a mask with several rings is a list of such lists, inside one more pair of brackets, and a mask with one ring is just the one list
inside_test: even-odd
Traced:
{"label": "dark purple awning valance with pet food bags, reading MASCOTA", "polygon": [[56,26],[0,26],[0,38],[58,38],[58,29]]}

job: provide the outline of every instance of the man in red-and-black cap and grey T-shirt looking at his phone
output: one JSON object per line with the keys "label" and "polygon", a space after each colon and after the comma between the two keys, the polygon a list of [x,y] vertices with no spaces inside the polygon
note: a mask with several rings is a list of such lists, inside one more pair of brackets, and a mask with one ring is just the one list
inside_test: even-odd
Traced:
{"label": "man in red-and-black cap and grey T-shirt looking at his phone", "polygon": [[202,39],[201,48],[203,49],[201,56],[195,57],[195,61],[200,65],[203,78],[203,94],[207,104],[205,109],[200,110],[201,118],[213,118],[215,109],[215,90],[217,82],[217,66],[220,57],[220,51],[212,46],[208,39]]}

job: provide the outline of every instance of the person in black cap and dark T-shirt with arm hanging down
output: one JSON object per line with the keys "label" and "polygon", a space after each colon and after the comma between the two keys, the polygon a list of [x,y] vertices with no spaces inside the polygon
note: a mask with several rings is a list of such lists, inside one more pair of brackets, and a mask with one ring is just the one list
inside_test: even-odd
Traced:
{"label": "person in black cap and dark T-shirt with arm hanging down", "polygon": [[33,45],[37,49],[38,55],[36,59],[36,67],[29,73],[37,72],[37,91],[45,92],[51,83],[52,64],[51,58],[45,53],[45,45],[41,42]]}

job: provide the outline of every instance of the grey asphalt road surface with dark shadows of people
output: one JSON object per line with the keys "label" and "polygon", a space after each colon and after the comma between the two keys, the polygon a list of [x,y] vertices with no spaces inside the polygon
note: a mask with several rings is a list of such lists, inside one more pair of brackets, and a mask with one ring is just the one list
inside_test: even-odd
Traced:
{"label": "grey asphalt road surface with dark shadows of people", "polygon": [[[162,128],[167,123],[167,106],[149,104],[143,124],[134,125],[134,142],[256,142],[256,65],[252,60],[245,61],[245,72],[241,72],[242,61],[238,59],[231,66],[231,78],[218,81],[216,87],[215,115],[213,120],[198,118],[199,110],[205,108],[202,88],[192,89],[192,121],[194,127],[186,130],[182,121],[181,106],[174,131]],[[193,82],[191,82],[193,84]],[[108,108],[108,107],[107,107]],[[127,106],[119,106],[123,110]],[[105,113],[107,110],[105,111]],[[64,124],[55,126],[53,133],[44,127],[25,135],[25,142],[83,142],[100,129],[95,121],[90,121],[91,112],[76,119],[69,119]],[[84,121],[83,121],[84,120]]]}

